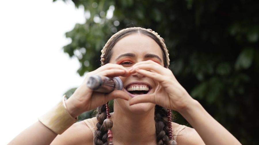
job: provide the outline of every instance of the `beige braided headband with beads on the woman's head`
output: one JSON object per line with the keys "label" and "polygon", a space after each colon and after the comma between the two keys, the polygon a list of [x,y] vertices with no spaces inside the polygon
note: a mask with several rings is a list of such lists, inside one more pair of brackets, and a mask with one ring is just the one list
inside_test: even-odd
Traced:
{"label": "beige braided headband with beads on the woman's head", "polygon": [[104,45],[104,47],[103,47],[102,50],[101,50],[101,53],[102,53],[102,55],[101,55],[101,65],[104,65],[105,52],[106,52],[106,50],[107,50],[108,45],[110,45],[110,43],[112,42],[112,40],[113,40],[115,37],[117,37],[119,34],[125,32],[125,31],[127,31],[127,30],[145,30],[145,31],[147,31],[148,33],[151,33],[151,34],[153,34],[154,36],[156,36],[157,38],[159,38],[160,43],[161,43],[162,46],[163,46],[162,49],[164,50],[164,52],[167,52],[167,55],[165,56],[165,59],[166,59],[166,61],[167,61],[167,66],[166,66],[166,68],[169,67],[170,59],[169,59],[168,49],[167,49],[166,46],[165,46],[165,40],[164,40],[162,37],[160,37],[160,35],[158,35],[157,32],[152,31],[151,29],[145,29],[145,28],[141,28],[141,27],[126,28],[126,29],[120,30],[119,32],[117,32],[117,33],[115,33],[113,36],[111,36],[111,38],[107,41],[107,43]]}

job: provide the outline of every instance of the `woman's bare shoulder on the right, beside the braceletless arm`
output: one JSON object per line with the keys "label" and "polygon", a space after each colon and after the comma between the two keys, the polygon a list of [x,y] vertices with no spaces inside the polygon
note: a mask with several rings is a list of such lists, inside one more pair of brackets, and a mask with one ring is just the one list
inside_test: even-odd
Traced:
{"label": "woman's bare shoulder on the right, beside the braceletless arm", "polygon": [[[180,125],[177,123],[172,124],[173,128],[177,128],[178,126]],[[176,141],[179,145],[205,145],[197,131],[190,127],[185,127],[183,130],[181,130],[178,133]]]}

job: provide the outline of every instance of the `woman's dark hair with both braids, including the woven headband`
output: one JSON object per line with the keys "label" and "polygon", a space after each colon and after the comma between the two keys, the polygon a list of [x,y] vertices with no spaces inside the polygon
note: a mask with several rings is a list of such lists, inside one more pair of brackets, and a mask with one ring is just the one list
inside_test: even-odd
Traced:
{"label": "woman's dark hair with both braids, including the woven headband", "polygon": [[[145,29],[140,27],[126,28],[115,33],[105,44],[101,50],[101,65],[109,63],[111,55],[113,53],[113,46],[123,37],[130,34],[140,33],[152,38],[161,48],[163,52],[164,67],[169,67],[169,53],[165,46],[165,41],[156,32],[151,29]],[[170,112],[170,114],[169,114]],[[170,117],[169,117],[170,115]],[[95,132],[94,143],[96,145],[108,145],[108,130],[104,127],[103,122],[107,118],[106,105],[98,107],[98,114],[96,115],[98,123],[96,124],[97,130]],[[172,138],[172,126],[171,126],[171,111],[163,108],[159,105],[155,106],[155,127],[157,134],[158,145],[176,145],[176,141]],[[170,130],[170,131],[169,131]],[[109,130],[110,131],[110,130]],[[111,132],[110,132],[111,134]],[[109,135],[110,136],[110,135]],[[110,138],[110,137],[109,137]],[[111,137],[112,138],[112,137]],[[110,144],[112,142],[110,141]]]}

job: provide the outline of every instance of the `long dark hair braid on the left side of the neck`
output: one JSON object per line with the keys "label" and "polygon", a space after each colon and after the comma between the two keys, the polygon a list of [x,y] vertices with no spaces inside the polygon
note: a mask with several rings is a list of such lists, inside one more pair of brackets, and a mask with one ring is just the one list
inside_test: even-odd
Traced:
{"label": "long dark hair braid on the left side of the neck", "polygon": [[94,138],[94,144],[95,145],[108,145],[107,142],[107,132],[108,130],[103,126],[103,121],[106,119],[106,105],[101,105],[97,109],[98,114],[96,115],[96,118],[98,120],[98,123],[96,124],[96,131],[95,131],[95,138]]}

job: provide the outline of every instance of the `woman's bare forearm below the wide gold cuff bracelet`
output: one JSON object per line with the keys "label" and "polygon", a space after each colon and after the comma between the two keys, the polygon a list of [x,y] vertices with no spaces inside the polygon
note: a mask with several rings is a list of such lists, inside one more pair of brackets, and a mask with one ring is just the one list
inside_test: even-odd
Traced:
{"label": "woman's bare forearm below the wide gold cuff bracelet", "polygon": [[56,136],[56,133],[37,121],[16,136],[8,145],[49,145]]}

